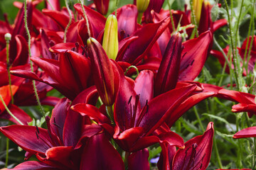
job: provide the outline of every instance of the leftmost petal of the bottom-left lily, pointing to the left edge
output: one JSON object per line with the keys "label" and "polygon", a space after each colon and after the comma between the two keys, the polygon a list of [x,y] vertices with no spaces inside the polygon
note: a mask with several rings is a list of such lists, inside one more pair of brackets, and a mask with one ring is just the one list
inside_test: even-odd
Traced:
{"label": "leftmost petal of the bottom-left lily, pointing to the left edge", "polygon": [[[53,147],[48,131],[28,125],[10,125],[1,127],[0,131],[22,149],[35,154],[44,154]],[[37,133],[37,135],[36,135]]]}

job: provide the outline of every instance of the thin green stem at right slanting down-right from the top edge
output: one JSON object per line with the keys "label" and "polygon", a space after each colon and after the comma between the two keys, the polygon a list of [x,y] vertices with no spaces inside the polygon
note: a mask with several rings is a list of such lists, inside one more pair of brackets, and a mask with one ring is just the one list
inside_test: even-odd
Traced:
{"label": "thin green stem at right slanting down-right from the top edge", "polygon": [[225,1],[226,11],[228,14],[228,27],[230,30],[231,52],[232,52],[232,55],[234,58],[233,65],[234,65],[234,71],[235,71],[235,81],[236,81],[238,89],[240,89],[240,84],[238,81],[237,55],[235,55],[235,52],[234,52],[233,31],[232,31],[232,26],[231,26],[230,14],[229,14],[229,10],[228,10],[228,2],[227,2],[227,0],[224,0],[224,1]]}

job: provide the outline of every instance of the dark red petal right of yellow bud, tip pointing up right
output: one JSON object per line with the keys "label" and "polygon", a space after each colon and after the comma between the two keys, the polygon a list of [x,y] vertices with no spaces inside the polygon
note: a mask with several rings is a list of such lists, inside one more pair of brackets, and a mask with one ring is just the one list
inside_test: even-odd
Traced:
{"label": "dark red petal right of yellow bud, tip pointing up right", "polygon": [[170,18],[166,18],[159,23],[149,23],[133,33],[132,36],[138,36],[139,38],[129,45],[129,48],[122,56],[122,61],[136,64],[142,60],[161,33],[164,32],[169,22]]}

